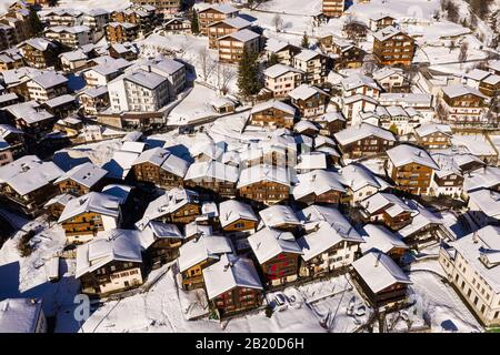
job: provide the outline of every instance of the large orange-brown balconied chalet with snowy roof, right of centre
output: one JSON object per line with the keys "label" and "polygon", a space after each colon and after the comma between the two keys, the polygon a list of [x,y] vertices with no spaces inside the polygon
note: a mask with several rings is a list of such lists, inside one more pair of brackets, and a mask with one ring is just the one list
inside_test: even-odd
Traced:
{"label": "large orange-brown balconied chalet with snowy roof, right of centre", "polygon": [[424,150],[401,144],[388,150],[388,176],[400,189],[412,194],[428,194],[434,176],[439,170],[433,159]]}

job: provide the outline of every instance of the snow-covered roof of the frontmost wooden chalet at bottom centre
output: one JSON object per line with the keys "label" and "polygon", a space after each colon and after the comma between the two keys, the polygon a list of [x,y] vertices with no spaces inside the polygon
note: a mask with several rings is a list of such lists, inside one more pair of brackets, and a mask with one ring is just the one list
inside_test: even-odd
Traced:
{"label": "snow-covered roof of the frontmost wooden chalet at bottom centre", "polygon": [[253,262],[230,254],[223,254],[217,263],[206,267],[203,280],[209,300],[234,287],[263,288]]}

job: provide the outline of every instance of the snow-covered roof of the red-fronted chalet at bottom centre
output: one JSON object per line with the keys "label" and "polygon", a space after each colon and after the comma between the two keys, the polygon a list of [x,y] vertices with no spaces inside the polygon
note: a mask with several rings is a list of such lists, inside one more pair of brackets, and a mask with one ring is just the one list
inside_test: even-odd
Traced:
{"label": "snow-covered roof of the red-fronted chalet at bottom centre", "polygon": [[248,243],[260,264],[281,253],[302,254],[293,234],[264,227],[248,237]]}

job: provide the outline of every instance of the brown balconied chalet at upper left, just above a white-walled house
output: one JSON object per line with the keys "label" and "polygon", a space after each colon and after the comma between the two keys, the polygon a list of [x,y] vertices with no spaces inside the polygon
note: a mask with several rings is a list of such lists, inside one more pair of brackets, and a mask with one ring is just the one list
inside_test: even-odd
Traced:
{"label": "brown balconied chalet at upper left, just above a white-walled house", "polygon": [[24,62],[31,68],[47,69],[58,62],[58,47],[46,39],[33,38],[18,44],[18,48]]}

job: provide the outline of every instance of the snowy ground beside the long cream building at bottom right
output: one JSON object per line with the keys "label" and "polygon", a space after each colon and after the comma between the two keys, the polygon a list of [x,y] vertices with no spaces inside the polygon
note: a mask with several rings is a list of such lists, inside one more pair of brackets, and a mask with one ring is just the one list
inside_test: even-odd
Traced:
{"label": "snowy ground beside the long cream building at bottom right", "polygon": [[432,332],[481,332],[476,321],[457,293],[438,276],[429,272],[410,274],[410,290],[421,297],[423,311],[430,316]]}

